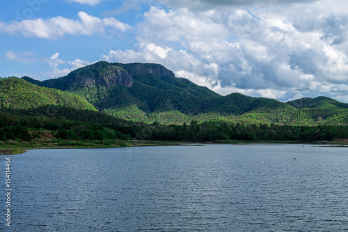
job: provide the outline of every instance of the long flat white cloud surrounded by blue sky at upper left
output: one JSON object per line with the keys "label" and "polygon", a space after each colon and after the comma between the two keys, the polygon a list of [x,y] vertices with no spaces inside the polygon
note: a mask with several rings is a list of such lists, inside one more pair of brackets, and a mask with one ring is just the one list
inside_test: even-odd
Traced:
{"label": "long flat white cloud surrounded by blue sky at upper left", "polygon": [[0,22],[0,32],[12,35],[21,34],[24,37],[56,39],[65,35],[93,36],[95,34],[107,34],[107,29],[127,31],[128,24],[122,23],[113,17],[100,19],[79,12],[79,20],[70,20],[65,17],[52,17],[46,20],[23,20],[21,22]]}

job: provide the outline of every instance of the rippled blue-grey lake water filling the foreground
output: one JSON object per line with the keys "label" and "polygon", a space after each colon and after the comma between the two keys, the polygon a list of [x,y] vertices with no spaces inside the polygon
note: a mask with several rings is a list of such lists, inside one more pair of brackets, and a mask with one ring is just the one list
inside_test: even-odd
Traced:
{"label": "rippled blue-grey lake water filling the foreground", "polygon": [[348,231],[347,148],[29,150],[11,158],[7,231]]}

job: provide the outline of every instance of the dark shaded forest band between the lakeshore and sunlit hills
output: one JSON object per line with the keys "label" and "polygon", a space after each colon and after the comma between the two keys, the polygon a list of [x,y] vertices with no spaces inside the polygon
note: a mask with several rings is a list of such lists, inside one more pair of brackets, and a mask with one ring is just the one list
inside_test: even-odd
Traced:
{"label": "dark shaded forest band between the lakeshore and sunlit hills", "polygon": [[[20,115],[19,115],[20,112]],[[50,116],[51,115],[51,116]],[[54,116],[52,116],[54,115]],[[97,111],[47,106],[0,112],[0,139],[157,141],[331,141],[348,137],[347,126],[292,126],[191,121],[183,125],[132,123]]]}

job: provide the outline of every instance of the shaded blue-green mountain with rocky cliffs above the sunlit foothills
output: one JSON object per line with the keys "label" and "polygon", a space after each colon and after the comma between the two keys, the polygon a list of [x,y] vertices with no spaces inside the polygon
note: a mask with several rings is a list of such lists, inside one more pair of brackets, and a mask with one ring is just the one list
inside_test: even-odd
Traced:
{"label": "shaded blue-green mountain with rocky cliffs above the sunlit foothills", "polygon": [[132,115],[129,118],[140,121],[145,114],[157,112],[175,111],[182,117],[210,113],[240,115],[253,109],[287,106],[276,100],[237,93],[223,97],[188,79],[177,78],[171,70],[154,63],[100,61],[57,79],[38,82],[23,78],[38,86],[77,93],[100,111],[121,117]]}

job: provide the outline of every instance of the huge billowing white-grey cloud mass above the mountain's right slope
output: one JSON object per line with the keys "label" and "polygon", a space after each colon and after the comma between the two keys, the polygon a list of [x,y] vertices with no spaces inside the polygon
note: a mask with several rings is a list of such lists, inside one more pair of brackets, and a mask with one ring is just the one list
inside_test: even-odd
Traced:
{"label": "huge billowing white-grey cloud mass above the mountain's right slope", "polygon": [[[213,4],[202,0],[189,5],[195,2]],[[161,63],[178,77],[221,94],[238,91],[278,100],[335,95],[347,102],[348,17],[341,1],[331,5],[301,1],[278,10],[259,5],[228,12],[179,8],[187,1],[161,3],[178,8],[150,8],[136,27],[139,44],[111,51],[104,59]],[[214,1],[216,6],[229,3]]]}

